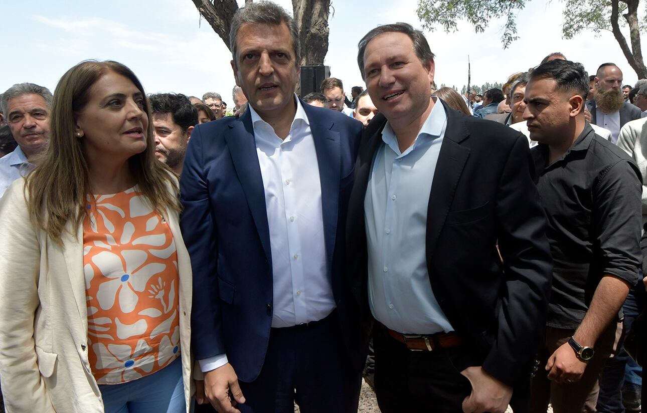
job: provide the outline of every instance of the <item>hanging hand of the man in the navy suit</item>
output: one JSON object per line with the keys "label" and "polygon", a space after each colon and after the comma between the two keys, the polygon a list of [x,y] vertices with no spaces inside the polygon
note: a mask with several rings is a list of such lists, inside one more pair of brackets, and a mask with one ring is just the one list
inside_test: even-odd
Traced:
{"label": "hanging hand of the man in the navy suit", "polygon": [[[204,394],[220,413],[240,413],[234,406],[236,403],[245,403],[238,385],[238,376],[229,363],[204,373]],[[234,399],[231,399],[230,394]]]}

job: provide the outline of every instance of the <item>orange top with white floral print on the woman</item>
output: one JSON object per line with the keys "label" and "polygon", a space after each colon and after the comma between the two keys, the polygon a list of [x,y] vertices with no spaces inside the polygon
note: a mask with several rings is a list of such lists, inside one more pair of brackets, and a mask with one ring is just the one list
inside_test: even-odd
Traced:
{"label": "orange top with white floral print on the woman", "polygon": [[83,270],[89,361],[99,384],[157,372],[180,355],[178,271],[170,228],[137,187],[88,198]]}

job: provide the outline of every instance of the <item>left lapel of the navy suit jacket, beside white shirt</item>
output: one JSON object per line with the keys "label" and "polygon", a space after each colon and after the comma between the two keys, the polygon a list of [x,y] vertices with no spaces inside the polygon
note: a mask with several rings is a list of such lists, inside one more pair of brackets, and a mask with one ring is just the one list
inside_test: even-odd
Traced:
{"label": "left lapel of the navy suit jacket, beside white shirt", "polygon": [[230,130],[225,134],[225,140],[232,155],[234,169],[243,187],[247,204],[254,218],[265,257],[270,267],[272,266],[272,253],[270,249],[270,229],[267,223],[267,209],[265,207],[265,189],[263,176],[256,154],[256,141],[252,116],[245,112],[238,122],[232,122]]}

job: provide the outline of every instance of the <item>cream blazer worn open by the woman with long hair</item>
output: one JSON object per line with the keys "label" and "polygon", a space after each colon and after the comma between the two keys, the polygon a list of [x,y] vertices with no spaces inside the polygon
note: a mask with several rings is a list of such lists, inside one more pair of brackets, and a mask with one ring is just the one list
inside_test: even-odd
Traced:
{"label": "cream blazer worn open by the woman with long hair", "polygon": [[[83,228],[56,244],[29,220],[20,178],[0,198],[0,380],[8,413],[102,413],[87,352]],[[192,272],[178,214],[166,211],[179,272],[186,412],[191,381]]]}

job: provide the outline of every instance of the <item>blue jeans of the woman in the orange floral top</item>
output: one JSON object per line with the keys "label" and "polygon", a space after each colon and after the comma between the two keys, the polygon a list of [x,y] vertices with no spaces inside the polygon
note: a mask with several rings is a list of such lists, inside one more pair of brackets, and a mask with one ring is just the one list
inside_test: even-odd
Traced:
{"label": "blue jeans of the woman in the orange floral top", "polygon": [[184,413],[182,357],[149,376],[99,390],[105,413]]}

